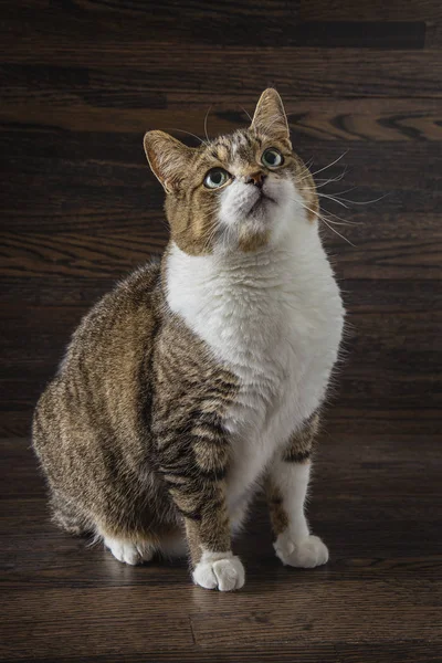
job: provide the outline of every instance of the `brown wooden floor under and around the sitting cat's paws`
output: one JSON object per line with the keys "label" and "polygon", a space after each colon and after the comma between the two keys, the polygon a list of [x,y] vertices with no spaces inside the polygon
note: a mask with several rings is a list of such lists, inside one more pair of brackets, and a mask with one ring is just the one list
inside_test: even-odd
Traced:
{"label": "brown wooden floor under and around the sitting cat's paws", "polygon": [[186,561],[128,567],[48,522],[27,440],[1,443],[1,661],[442,660],[442,449],[324,434],[309,516],[322,568],[284,568],[259,502],[235,549],[246,585],[194,587]]}

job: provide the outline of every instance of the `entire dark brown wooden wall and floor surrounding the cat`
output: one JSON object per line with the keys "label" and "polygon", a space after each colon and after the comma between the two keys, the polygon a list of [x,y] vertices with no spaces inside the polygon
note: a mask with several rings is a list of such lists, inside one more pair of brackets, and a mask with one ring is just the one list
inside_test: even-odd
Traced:
{"label": "entire dark brown wooden wall and floor surrounding the cat", "polygon": [[[56,530],[29,431],[82,315],[167,241],[144,131],[202,135],[209,107],[229,131],[269,85],[355,201],[323,198],[357,222],[324,228],[349,312],[308,508],[332,559],[283,568],[259,504],[248,583],[217,594]],[[440,0],[0,0],[0,660],[440,662]]]}

